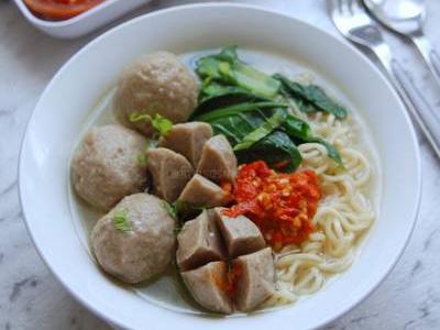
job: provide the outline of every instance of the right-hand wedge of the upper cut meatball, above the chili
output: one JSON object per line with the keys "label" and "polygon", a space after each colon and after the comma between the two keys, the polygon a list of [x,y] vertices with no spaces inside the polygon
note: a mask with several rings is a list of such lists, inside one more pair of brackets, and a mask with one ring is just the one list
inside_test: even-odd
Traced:
{"label": "right-hand wedge of the upper cut meatball, above the chili", "polygon": [[237,176],[237,157],[227,138],[216,135],[205,143],[197,172],[215,183],[233,182]]}

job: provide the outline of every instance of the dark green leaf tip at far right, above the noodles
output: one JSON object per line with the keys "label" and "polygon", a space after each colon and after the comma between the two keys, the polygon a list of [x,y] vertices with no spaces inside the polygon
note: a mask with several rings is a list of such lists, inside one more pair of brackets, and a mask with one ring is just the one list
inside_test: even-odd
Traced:
{"label": "dark green leaf tip at far right, above the noodles", "polygon": [[301,85],[279,74],[274,75],[274,78],[283,84],[284,95],[289,95],[300,111],[324,111],[339,119],[346,117],[345,108],[334,102],[321,87],[312,84]]}

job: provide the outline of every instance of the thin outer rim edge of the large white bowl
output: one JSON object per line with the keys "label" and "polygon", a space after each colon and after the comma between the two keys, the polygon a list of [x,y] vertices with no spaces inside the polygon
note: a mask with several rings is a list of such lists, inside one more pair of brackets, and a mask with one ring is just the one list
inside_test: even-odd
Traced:
{"label": "thin outer rim edge of the large white bowl", "polygon": [[[110,0],[111,1],[111,0]],[[110,2],[109,1],[109,2]],[[26,141],[29,138],[29,128],[31,125],[31,123],[34,121],[35,118],[35,113],[36,113],[36,109],[38,108],[41,100],[46,96],[46,94],[48,94],[48,91],[51,90],[52,86],[55,84],[55,81],[57,80],[57,77],[61,76],[64,72],[64,69],[66,67],[68,67],[70,65],[70,63],[75,62],[77,57],[81,56],[82,53],[85,53],[86,51],[88,51],[90,47],[94,47],[94,45],[98,42],[100,42],[101,40],[106,38],[108,35],[117,32],[120,29],[124,29],[129,25],[132,24],[136,24],[140,21],[146,20],[151,16],[156,16],[156,15],[166,15],[169,12],[176,12],[176,11],[183,11],[183,10],[193,10],[193,9],[198,9],[198,8],[240,8],[240,9],[244,9],[244,10],[253,10],[253,11],[261,11],[261,12],[266,12],[268,14],[275,14],[275,15],[280,15],[284,18],[287,18],[289,20],[294,20],[296,21],[297,24],[302,24],[302,25],[307,25],[308,29],[312,29],[319,33],[326,34],[327,37],[332,38],[336,43],[338,43],[341,47],[345,47],[348,48],[351,53],[354,53],[355,56],[359,57],[360,61],[363,62],[364,65],[366,65],[369,67],[369,70],[374,72],[378,78],[381,80],[383,80],[383,82],[387,86],[389,92],[392,95],[394,95],[394,98],[396,100],[396,102],[399,105],[399,108],[402,109],[402,114],[405,118],[406,124],[407,124],[407,129],[410,133],[410,140],[413,142],[413,147],[415,151],[415,169],[416,169],[416,191],[415,191],[415,206],[414,209],[411,210],[410,216],[408,217],[408,219],[411,220],[410,223],[410,230],[408,230],[408,232],[406,233],[406,238],[404,240],[404,244],[400,246],[398,254],[396,255],[395,260],[393,262],[391,262],[388,264],[388,267],[385,270],[383,270],[382,275],[380,276],[378,280],[371,286],[371,288],[369,290],[365,290],[362,295],[360,295],[355,300],[355,302],[345,306],[344,308],[342,308],[339,312],[332,315],[331,317],[327,317],[322,320],[320,320],[319,322],[316,323],[316,328],[320,328],[323,327],[330,322],[332,322],[333,320],[342,317],[343,315],[345,315],[346,312],[349,312],[351,309],[353,309],[354,307],[356,307],[359,304],[361,304],[364,299],[366,299],[370,295],[373,294],[373,292],[376,290],[376,288],[378,287],[380,284],[383,283],[383,280],[386,278],[386,276],[388,276],[388,274],[391,273],[391,271],[395,267],[395,265],[397,264],[397,262],[400,260],[403,253],[405,252],[407,245],[408,245],[408,241],[411,238],[411,234],[414,232],[416,222],[417,222],[417,217],[419,213],[419,208],[420,208],[420,200],[421,200],[421,157],[420,157],[420,147],[418,144],[418,140],[417,140],[417,135],[416,135],[416,131],[413,124],[413,121],[409,118],[409,114],[402,101],[402,99],[399,98],[399,96],[397,95],[396,90],[394,89],[394,87],[392,86],[392,84],[389,82],[389,80],[386,78],[386,76],[384,75],[384,73],[376,67],[366,56],[365,54],[363,54],[361,51],[359,51],[356,47],[354,47],[352,44],[345,42],[344,40],[342,40],[341,37],[338,37],[336,35],[333,35],[332,33],[329,33],[327,31],[324,31],[323,29],[317,28],[315,25],[311,25],[310,23],[300,20],[299,18],[296,16],[292,16],[289,14],[283,13],[279,10],[273,10],[273,9],[267,9],[267,8],[263,8],[260,6],[255,6],[255,4],[248,4],[248,3],[231,3],[231,2],[206,2],[206,3],[190,3],[190,4],[183,4],[183,6],[176,6],[176,7],[172,7],[172,8],[166,8],[166,9],[161,9],[154,12],[148,12],[145,13],[143,15],[136,16],[134,19],[131,19],[124,23],[121,23],[110,30],[108,30],[107,32],[102,33],[101,35],[92,38],[90,42],[88,42],[86,45],[84,45],[80,50],[78,50],[73,56],[70,56],[70,58],[56,72],[56,74],[52,77],[52,79],[50,80],[50,82],[46,85],[44,91],[42,92],[42,95],[38,98],[38,101],[36,102],[34,110],[26,123],[25,127],[25,133],[23,134],[22,138],[22,142],[21,142],[21,147],[20,147],[20,154],[19,154],[19,164],[18,164],[18,178],[19,178],[19,200],[20,200],[20,205],[21,205],[21,209],[23,212],[23,218],[24,218],[24,222],[25,222],[25,227],[26,230],[32,239],[32,242],[37,251],[37,253],[40,254],[41,258],[43,260],[43,262],[45,263],[45,265],[48,267],[48,270],[51,271],[51,273],[55,276],[55,278],[63,285],[63,287],[70,294],[72,297],[74,297],[78,302],[80,302],[82,306],[85,306],[87,309],[89,309],[90,311],[92,311],[96,316],[100,317],[101,319],[103,319],[105,321],[109,322],[111,326],[117,326],[117,327],[121,327],[121,329],[132,329],[130,324],[119,320],[116,316],[105,312],[103,310],[101,310],[98,306],[89,304],[87,301],[87,299],[85,297],[81,297],[80,294],[78,294],[77,292],[75,292],[74,289],[70,288],[68,282],[65,282],[63,279],[63,276],[61,276],[55,270],[53,270],[53,267],[51,266],[51,261],[48,258],[45,257],[43,251],[41,250],[41,248],[37,245],[36,243],[36,238],[34,237],[32,230],[31,230],[31,226],[30,222],[31,217],[29,216],[29,212],[26,210],[25,207],[25,197],[23,194],[24,190],[24,186],[23,186],[23,166],[24,166],[24,161],[23,161],[23,155],[24,152],[26,150]]]}

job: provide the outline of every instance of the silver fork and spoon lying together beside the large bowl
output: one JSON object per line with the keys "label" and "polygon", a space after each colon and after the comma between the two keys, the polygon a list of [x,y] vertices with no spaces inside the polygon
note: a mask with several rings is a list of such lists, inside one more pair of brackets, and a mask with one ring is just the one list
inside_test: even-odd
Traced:
{"label": "silver fork and spoon lying together beside the large bowl", "polygon": [[[426,16],[422,0],[331,0],[331,18],[339,32],[353,44],[370,51],[388,74],[410,114],[433,151],[440,156],[440,114],[414,86],[410,76],[394,57],[383,37],[381,24],[409,38],[421,54],[440,88],[440,56],[425,36]],[[374,19],[373,19],[374,18]]]}

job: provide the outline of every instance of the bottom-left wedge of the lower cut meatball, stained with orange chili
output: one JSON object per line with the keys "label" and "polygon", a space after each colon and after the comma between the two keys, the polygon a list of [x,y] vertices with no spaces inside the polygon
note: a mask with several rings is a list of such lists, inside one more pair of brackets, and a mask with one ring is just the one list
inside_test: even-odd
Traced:
{"label": "bottom-left wedge of the lower cut meatball, stained with orange chili", "polygon": [[233,306],[227,295],[228,266],[224,262],[211,262],[197,270],[182,273],[193,297],[202,307],[222,314],[231,314]]}

